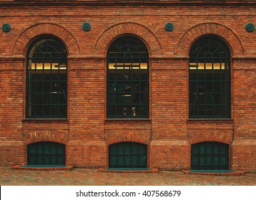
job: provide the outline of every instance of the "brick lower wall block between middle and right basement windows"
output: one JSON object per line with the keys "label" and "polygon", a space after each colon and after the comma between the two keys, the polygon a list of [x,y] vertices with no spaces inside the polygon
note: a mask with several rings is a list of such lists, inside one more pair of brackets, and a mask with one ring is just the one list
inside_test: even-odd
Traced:
{"label": "brick lower wall block between middle and right basement windows", "polygon": [[180,170],[190,168],[190,145],[187,141],[151,141],[149,168]]}

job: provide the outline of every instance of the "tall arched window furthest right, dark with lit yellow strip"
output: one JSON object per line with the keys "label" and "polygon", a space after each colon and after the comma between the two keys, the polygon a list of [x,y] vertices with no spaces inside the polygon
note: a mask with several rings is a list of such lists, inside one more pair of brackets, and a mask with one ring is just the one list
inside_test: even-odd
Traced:
{"label": "tall arched window furthest right, dark with lit yellow strip", "polygon": [[189,51],[189,117],[230,118],[230,51],[205,36]]}

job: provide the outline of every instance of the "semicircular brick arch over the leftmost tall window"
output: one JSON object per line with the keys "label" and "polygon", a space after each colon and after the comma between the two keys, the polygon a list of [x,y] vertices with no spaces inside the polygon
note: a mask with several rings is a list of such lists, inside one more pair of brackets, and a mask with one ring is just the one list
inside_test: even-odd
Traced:
{"label": "semicircular brick arch over the leftmost tall window", "polygon": [[35,24],[23,31],[15,41],[12,54],[26,56],[26,49],[30,41],[43,34],[51,34],[61,39],[67,46],[69,56],[79,54],[79,43],[76,37],[63,26],[51,23]]}

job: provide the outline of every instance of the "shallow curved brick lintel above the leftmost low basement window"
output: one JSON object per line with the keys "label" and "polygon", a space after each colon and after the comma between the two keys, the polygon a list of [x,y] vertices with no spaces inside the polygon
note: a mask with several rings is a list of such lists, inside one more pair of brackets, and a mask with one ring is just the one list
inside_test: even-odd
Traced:
{"label": "shallow curved brick lintel above the leftmost low basement window", "polygon": [[25,145],[38,141],[54,141],[61,144],[67,144],[69,141],[69,136],[65,133],[49,129],[31,131],[27,134],[24,134]]}

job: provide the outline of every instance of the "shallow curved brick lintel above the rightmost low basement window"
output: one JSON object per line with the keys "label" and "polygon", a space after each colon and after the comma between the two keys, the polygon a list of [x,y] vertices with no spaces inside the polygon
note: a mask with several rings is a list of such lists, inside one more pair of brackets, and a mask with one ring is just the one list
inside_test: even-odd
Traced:
{"label": "shallow curved brick lintel above the rightmost low basement window", "polygon": [[190,144],[196,144],[203,141],[217,141],[225,144],[232,144],[232,131],[196,131],[188,134]]}

